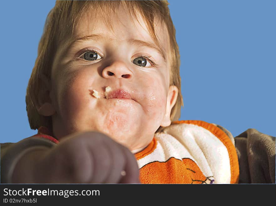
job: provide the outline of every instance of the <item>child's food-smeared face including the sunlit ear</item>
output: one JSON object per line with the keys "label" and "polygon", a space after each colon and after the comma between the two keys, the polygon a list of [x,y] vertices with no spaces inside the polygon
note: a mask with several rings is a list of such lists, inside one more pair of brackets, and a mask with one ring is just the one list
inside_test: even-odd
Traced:
{"label": "child's food-smeared face including the sunlit ear", "polygon": [[[75,41],[67,49],[59,45],[50,83],[56,138],[96,130],[130,150],[139,150],[151,142],[160,125],[170,124],[178,90],[169,86],[167,30],[160,23],[156,27],[163,47],[158,52],[143,43],[157,48],[146,24],[139,18],[142,27],[136,19],[133,24],[120,9],[119,18],[113,18],[113,33],[104,19],[87,12],[74,29],[75,36],[87,38]],[[108,86],[112,91],[106,98],[104,92]],[[98,91],[100,98],[92,95],[93,90]]]}

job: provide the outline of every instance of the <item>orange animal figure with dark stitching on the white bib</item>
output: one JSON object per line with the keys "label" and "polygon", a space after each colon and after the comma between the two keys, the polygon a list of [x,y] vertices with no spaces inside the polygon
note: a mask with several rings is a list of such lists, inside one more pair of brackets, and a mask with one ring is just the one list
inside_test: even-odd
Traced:
{"label": "orange animal figure with dark stitching on the white bib", "polygon": [[197,164],[189,159],[169,158],[166,162],[151,162],[140,169],[143,184],[202,184],[210,183]]}

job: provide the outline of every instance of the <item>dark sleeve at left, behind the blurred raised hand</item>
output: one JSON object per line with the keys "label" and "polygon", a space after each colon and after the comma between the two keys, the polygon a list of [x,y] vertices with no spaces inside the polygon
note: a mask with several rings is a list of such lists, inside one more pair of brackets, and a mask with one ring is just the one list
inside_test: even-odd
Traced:
{"label": "dark sleeve at left, behind the blurred raised hand", "polygon": [[11,175],[19,158],[29,149],[35,147],[49,147],[56,145],[45,138],[29,137],[17,143],[1,143],[1,183],[11,183]]}

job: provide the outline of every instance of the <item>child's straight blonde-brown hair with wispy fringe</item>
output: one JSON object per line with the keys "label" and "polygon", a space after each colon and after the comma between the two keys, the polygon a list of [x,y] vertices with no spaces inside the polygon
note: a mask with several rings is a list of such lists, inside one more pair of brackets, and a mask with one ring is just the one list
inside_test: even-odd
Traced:
{"label": "child's straight blonde-brown hair with wispy fringe", "polygon": [[[26,110],[31,129],[38,129],[40,126],[52,129],[51,117],[40,115],[35,103],[38,102],[40,88],[44,86],[43,76],[51,79],[51,68],[58,45],[61,45],[64,39],[68,39],[70,36],[72,40],[74,28],[88,8],[94,9],[96,13],[105,17],[105,23],[112,28],[112,15],[110,14],[111,12],[115,14],[120,5],[129,12],[131,17],[137,19],[137,13],[141,14],[151,37],[159,46],[160,43],[155,34],[154,18],[159,17],[167,26],[171,49],[170,85],[175,85],[179,89],[170,118],[172,121],[178,120],[181,106],[183,106],[179,74],[180,55],[168,4],[167,1],[56,1],[55,7],[50,11],[45,22],[38,46],[38,55],[26,92]],[[92,5],[93,7],[91,7]]]}

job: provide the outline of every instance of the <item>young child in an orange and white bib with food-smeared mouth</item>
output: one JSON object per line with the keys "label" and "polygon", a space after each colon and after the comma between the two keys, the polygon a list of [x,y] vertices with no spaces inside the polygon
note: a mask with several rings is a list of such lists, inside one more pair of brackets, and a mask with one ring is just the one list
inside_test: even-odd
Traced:
{"label": "young child in an orange and white bib with food-smeared mouth", "polygon": [[1,183],[275,183],[275,137],[175,121],[179,66],[166,1],[57,1]]}

